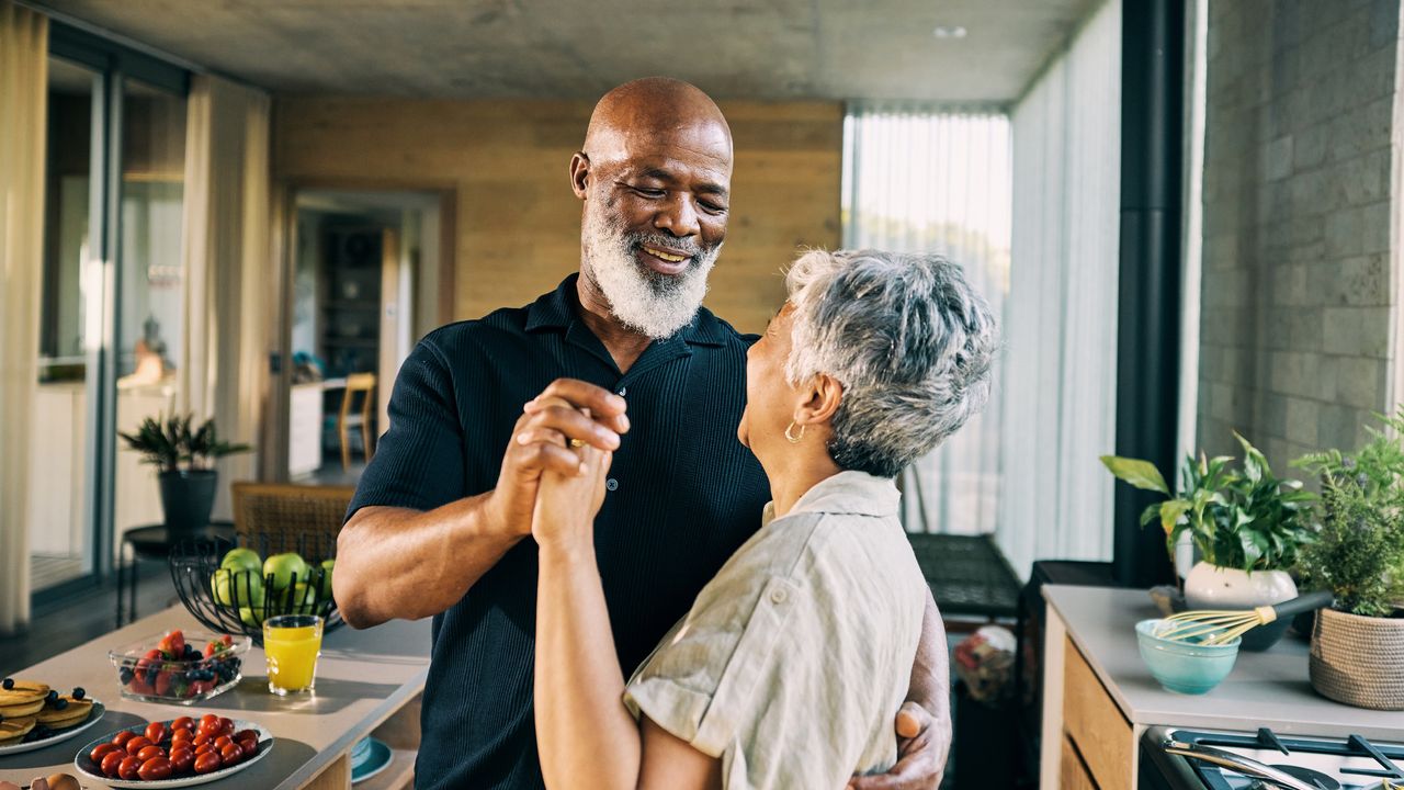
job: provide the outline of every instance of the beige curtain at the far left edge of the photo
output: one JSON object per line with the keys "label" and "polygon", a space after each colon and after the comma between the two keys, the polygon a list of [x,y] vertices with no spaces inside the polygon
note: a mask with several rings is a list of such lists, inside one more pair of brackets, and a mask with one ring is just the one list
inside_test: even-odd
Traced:
{"label": "beige curtain at the far left edge of the photo", "polygon": [[29,621],[49,20],[0,0],[0,634]]}

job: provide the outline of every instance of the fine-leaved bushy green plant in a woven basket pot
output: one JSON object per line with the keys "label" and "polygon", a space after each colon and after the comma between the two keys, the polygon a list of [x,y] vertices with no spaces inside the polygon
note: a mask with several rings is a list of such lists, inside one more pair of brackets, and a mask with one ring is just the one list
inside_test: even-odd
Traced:
{"label": "fine-leaved bushy green plant in a woven basket pot", "polygon": [[1353,455],[1330,450],[1296,464],[1321,478],[1317,541],[1302,555],[1304,582],[1335,604],[1311,627],[1311,686],[1332,700],[1404,710],[1404,408],[1379,415]]}

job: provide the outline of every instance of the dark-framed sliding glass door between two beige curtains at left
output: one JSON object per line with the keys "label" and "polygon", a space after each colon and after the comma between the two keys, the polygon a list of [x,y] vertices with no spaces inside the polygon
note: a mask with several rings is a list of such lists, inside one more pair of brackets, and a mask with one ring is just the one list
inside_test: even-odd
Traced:
{"label": "dark-framed sliding glass door between two beige curtains at left", "polygon": [[35,599],[114,568],[121,531],[161,520],[117,432],[176,406],[184,337],[188,73],[51,24],[44,288],[35,382]]}

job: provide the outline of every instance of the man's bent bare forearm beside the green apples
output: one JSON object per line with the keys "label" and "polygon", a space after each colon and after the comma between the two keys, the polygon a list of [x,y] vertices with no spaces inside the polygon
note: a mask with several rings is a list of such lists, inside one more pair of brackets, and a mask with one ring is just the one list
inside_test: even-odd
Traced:
{"label": "man's bent bare forearm beside the green apples", "polygon": [[434,510],[362,507],[337,537],[331,576],[347,623],[368,628],[445,611],[524,537],[496,523],[491,493]]}

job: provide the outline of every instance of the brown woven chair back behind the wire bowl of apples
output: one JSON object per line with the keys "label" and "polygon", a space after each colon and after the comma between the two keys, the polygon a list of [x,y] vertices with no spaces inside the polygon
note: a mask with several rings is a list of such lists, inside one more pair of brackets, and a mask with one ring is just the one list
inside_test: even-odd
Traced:
{"label": "brown woven chair back behind the wire bowl of apples", "polygon": [[350,485],[236,482],[232,488],[234,531],[244,537],[268,536],[274,544],[312,534],[336,545],[355,493]]}

